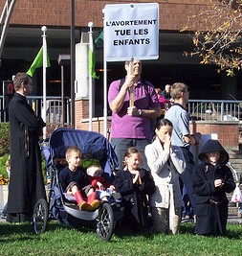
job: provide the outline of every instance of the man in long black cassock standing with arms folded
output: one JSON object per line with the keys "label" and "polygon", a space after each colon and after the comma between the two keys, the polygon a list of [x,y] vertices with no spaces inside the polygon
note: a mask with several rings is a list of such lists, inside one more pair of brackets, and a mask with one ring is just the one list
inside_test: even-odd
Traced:
{"label": "man in long black cassock standing with arms folded", "polygon": [[9,106],[11,129],[11,178],[7,221],[32,221],[33,207],[39,198],[46,198],[41,171],[39,135],[45,127],[35,116],[26,96],[33,91],[33,81],[26,73],[17,73],[15,94]]}

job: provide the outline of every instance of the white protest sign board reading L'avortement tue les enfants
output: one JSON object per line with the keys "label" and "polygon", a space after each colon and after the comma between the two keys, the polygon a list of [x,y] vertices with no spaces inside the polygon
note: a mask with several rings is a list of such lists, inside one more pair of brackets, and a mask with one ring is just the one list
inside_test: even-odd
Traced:
{"label": "white protest sign board reading L'avortement tue les enfants", "polygon": [[159,58],[159,5],[106,5],[104,55],[106,61]]}

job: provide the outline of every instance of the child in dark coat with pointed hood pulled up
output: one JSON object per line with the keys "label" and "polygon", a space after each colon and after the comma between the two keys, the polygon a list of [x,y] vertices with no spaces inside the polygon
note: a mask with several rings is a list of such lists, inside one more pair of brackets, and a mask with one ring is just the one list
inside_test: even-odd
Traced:
{"label": "child in dark coat with pointed hood pulled up", "polygon": [[192,175],[197,210],[195,233],[225,235],[229,203],[226,193],[235,188],[231,169],[226,165],[229,154],[217,140],[209,140],[198,157],[202,163]]}

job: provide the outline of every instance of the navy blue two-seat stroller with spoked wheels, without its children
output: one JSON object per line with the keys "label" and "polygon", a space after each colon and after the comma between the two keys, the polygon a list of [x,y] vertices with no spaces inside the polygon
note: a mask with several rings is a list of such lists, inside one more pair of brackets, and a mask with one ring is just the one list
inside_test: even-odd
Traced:
{"label": "navy blue two-seat stroller with spoked wheels, without its children", "polygon": [[[97,235],[104,241],[109,241],[113,235],[116,221],[121,220],[123,207],[115,194],[109,201],[100,201],[99,208],[94,212],[80,211],[77,202],[68,201],[63,196],[58,182],[58,174],[63,165],[59,159],[65,159],[65,151],[70,146],[77,146],[82,151],[83,158],[97,159],[110,181],[117,167],[117,156],[107,139],[94,131],[72,128],[56,129],[49,140],[49,175],[51,176],[48,201],[39,199],[33,210],[33,230],[36,234],[44,232],[48,219],[64,222],[73,227],[87,226],[96,228]],[[49,157],[48,157],[49,156]],[[119,198],[119,195],[117,195]]]}

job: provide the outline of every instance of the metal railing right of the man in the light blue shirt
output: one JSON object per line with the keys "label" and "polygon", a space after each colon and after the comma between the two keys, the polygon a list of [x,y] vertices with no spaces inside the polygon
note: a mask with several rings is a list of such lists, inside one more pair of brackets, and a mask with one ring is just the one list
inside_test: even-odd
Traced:
{"label": "metal railing right of the man in the light blue shirt", "polygon": [[189,100],[191,120],[241,121],[242,103],[239,101]]}

